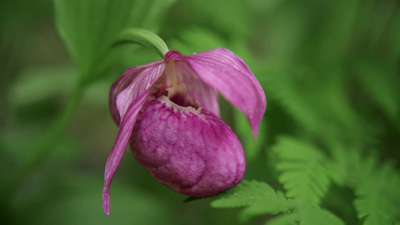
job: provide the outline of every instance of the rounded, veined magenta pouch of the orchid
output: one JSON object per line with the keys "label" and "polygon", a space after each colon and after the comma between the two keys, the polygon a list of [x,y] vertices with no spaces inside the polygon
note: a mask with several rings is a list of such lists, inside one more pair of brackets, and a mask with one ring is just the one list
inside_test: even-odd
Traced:
{"label": "rounded, veined magenta pouch of the orchid", "polygon": [[160,183],[194,197],[236,186],[246,159],[228,125],[207,110],[181,107],[166,96],[142,106],[130,144],[138,162]]}

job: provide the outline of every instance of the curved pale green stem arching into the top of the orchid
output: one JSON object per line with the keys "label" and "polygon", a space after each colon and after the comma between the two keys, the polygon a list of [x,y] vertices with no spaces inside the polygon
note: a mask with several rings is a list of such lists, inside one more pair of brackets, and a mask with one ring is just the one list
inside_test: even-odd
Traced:
{"label": "curved pale green stem arching into the top of the orchid", "polygon": [[140,29],[140,28],[128,28],[121,32],[117,37],[116,42],[134,42],[142,46],[151,48],[157,52],[161,58],[164,58],[165,53],[168,52],[168,47],[165,42],[156,34]]}

